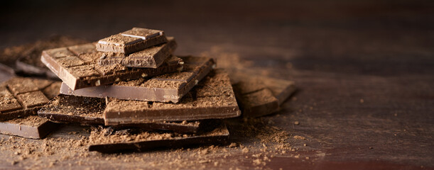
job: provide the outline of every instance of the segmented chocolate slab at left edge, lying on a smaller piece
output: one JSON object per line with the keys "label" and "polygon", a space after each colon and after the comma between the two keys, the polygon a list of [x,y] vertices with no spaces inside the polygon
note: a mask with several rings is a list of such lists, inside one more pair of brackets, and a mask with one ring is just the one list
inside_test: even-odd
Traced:
{"label": "segmented chocolate slab at left edge, lying on a smaller piece", "polygon": [[[54,85],[53,85],[54,84]],[[46,79],[14,77],[0,84],[0,120],[36,115],[52,96],[60,82]]]}

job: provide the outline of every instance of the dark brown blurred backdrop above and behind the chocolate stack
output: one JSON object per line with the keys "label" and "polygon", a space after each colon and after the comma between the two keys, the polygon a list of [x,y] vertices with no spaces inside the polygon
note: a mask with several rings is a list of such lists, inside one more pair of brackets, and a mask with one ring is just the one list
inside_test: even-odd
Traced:
{"label": "dark brown blurred backdrop above and behind the chocolate stack", "polygon": [[99,40],[138,26],[175,36],[183,55],[236,52],[264,66],[357,74],[434,67],[434,1],[4,1],[0,8],[0,47],[50,35]]}

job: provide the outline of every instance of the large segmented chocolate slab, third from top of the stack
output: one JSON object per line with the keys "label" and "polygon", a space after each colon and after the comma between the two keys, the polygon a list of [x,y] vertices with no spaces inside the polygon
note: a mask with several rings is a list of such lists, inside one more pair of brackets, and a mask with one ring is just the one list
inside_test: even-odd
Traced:
{"label": "large segmented chocolate slab, third from top of the stack", "polygon": [[45,50],[42,52],[41,61],[72,90],[153,77],[182,69],[182,60],[175,56],[169,57],[156,69],[131,69],[120,64],[102,67],[96,61],[103,53],[97,52],[94,44],[89,43]]}

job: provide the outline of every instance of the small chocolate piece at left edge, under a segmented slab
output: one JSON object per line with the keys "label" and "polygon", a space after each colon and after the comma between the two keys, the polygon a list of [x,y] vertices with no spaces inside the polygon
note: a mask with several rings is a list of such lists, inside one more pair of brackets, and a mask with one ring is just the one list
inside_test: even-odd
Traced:
{"label": "small chocolate piece at left edge, under a segmented slab", "polygon": [[29,115],[24,118],[15,118],[0,122],[0,133],[16,135],[33,139],[40,139],[55,130],[59,124],[52,123],[38,115]]}

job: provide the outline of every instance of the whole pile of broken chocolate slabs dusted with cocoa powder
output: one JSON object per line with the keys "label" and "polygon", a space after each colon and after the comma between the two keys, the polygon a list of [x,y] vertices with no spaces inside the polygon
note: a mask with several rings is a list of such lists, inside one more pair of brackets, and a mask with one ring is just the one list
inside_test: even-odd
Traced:
{"label": "whole pile of broken chocolate slabs dusted with cocoa powder", "polygon": [[229,140],[224,119],[275,113],[295,91],[293,81],[229,75],[211,57],[175,56],[176,47],[162,30],[132,28],[44,50],[40,61],[62,82],[3,82],[0,132],[41,138],[59,123],[92,125],[98,152],[214,145]]}

